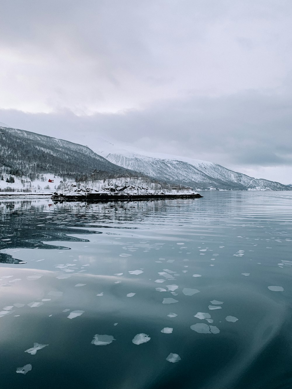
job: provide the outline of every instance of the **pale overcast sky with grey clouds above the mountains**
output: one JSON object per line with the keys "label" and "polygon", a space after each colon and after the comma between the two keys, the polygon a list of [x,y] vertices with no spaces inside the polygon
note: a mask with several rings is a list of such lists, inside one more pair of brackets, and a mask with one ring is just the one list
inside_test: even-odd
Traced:
{"label": "pale overcast sky with grey clouds above the mountains", "polygon": [[0,122],[292,183],[291,0],[2,0]]}

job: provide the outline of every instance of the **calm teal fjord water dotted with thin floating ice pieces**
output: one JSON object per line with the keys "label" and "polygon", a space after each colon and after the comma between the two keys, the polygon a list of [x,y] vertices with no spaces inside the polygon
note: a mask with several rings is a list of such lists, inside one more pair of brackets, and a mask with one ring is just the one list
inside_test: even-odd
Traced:
{"label": "calm teal fjord water dotted with thin floating ice pieces", "polygon": [[0,200],[0,387],[292,387],[292,192],[202,195]]}

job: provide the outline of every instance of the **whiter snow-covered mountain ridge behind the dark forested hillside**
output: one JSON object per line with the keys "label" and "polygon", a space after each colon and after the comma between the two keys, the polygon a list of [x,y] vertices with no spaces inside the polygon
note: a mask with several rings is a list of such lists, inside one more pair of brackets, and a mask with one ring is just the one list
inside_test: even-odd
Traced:
{"label": "whiter snow-covered mountain ridge behind the dark forested hillside", "polygon": [[169,154],[150,153],[128,145],[115,146],[100,139],[96,152],[112,163],[159,180],[177,182],[193,189],[291,190],[291,187],[233,172],[213,162]]}

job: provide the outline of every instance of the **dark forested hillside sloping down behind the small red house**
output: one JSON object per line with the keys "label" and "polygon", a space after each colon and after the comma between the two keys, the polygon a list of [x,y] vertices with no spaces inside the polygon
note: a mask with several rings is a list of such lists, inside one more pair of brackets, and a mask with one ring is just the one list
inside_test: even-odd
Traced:
{"label": "dark forested hillside sloping down behind the small red house", "polygon": [[0,127],[0,166],[5,173],[28,176],[50,173],[75,179],[93,171],[133,173],[93,152],[89,147],[30,131]]}

